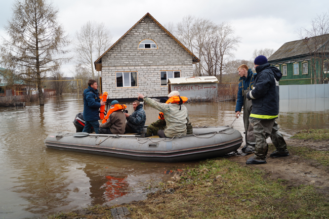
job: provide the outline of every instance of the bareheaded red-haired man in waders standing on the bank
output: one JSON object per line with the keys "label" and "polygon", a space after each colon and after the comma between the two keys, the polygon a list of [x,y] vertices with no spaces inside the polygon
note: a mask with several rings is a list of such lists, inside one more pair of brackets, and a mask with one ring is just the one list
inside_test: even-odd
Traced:
{"label": "bareheaded red-haired man in waders standing on the bank", "polygon": [[252,69],[248,69],[246,65],[240,65],[237,68],[240,75],[239,90],[237,92],[237,101],[235,106],[235,117],[240,116],[240,112],[243,106],[243,124],[245,132],[245,146],[242,148],[242,152],[251,154],[255,151],[256,140],[254,137],[253,126],[249,125],[249,115],[252,111],[253,104],[246,99],[246,94],[253,90],[254,85],[254,73]]}

